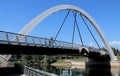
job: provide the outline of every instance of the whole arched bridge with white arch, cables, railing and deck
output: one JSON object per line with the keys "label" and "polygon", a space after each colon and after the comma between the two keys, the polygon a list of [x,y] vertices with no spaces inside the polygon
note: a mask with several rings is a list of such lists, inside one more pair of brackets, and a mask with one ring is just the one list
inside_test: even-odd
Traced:
{"label": "whole arched bridge with white arch, cables, railing and deck", "polygon": [[[54,39],[40,38],[40,37],[34,37],[28,35],[29,32],[32,31],[32,29],[38,25],[38,23],[43,21],[47,16],[51,15],[52,13],[55,13],[60,10],[68,10],[68,12]],[[72,42],[58,41],[57,36],[61,31],[70,11],[72,11],[74,18]],[[99,51],[98,49],[85,46],[83,44],[82,36],[76,19],[77,14],[79,14],[81,19],[83,20],[83,23],[90,32],[92,38],[98,45]],[[10,59],[11,54],[39,54],[39,55],[57,55],[57,54],[78,55],[79,54],[79,55],[89,56],[89,55],[93,55],[90,54],[91,52],[95,52],[94,56],[95,54],[101,55],[100,46],[97,40],[95,39],[95,37],[93,36],[84,18],[86,18],[92,24],[92,26],[99,34],[100,38],[102,39],[105,45],[107,54],[110,56],[110,60],[115,61],[116,57],[97,22],[83,9],[72,5],[59,5],[46,10],[45,12],[41,13],[33,20],[31,20],[22,30],[20,30],[18,34],[6,32],[6,31],[0,31],[0,54],[1,54],[0,61],[3,64],[6,63]],[[81,44],[74,43],[75,28],[77,28]]]}

